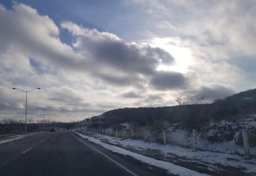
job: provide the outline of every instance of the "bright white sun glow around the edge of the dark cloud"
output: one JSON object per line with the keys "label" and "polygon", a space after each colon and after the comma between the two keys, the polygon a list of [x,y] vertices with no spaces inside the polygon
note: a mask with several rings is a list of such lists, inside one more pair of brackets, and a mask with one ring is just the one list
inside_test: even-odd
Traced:
{"label": "bright white sun glow around the edge of the dark cloud", "polygon": [[186,43],[175,38],[154,38],[150,45],[162,48],[175,58],[175,64],[171,66],[160,64],[157,68],[158,71],[176,71],[179,73],[187,73],[189,71],[193,56],[190,48],[185,46]]}

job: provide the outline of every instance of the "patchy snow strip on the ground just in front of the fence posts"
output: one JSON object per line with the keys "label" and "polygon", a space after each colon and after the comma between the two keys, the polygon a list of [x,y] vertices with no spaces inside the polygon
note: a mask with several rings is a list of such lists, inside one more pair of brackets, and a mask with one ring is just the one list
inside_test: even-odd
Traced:
{"label": "patchy snow strip on the ground just in front of the fence posts", "polygon": [[[93,133],[92,133],[93,134]],[[134,149],[154,149],[162,152],[165,156],[170,153],[178,156],[191,159],[196,162],[204,162],[204,164],[221,164],[230,167],[244,168],[244,172],[256,173],[256,159],[245,160],[244,157],[236,154],[227,154],[222,152],[211,151],[196,151],[193,149],[175,146],[175,145],[161,145],[158,143],[145,143],[140,140],[115,138],[112,136],[106,136],[103,134],[93,134],[98,139],[107,140],[111,144],[118,144],[124,147],[132,147]],[[93,138],[94,139],[94,138]]]}

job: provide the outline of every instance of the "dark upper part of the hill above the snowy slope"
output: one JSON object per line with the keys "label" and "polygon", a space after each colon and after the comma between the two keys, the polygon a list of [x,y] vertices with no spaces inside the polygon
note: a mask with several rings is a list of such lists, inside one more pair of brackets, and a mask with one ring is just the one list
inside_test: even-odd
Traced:
{"label": "dark upper part of the hill above the snowy slope", "polygon": [[147,126],[157,121],[167,121],[168,123],[181,123],[188,129],[194,129],[200,128],[210,120],[230,121],[252,114],[256,114],[256,89],[240,92],[211,104],[119,108],[81,121],[80,125],[107,128],[121,123]]}

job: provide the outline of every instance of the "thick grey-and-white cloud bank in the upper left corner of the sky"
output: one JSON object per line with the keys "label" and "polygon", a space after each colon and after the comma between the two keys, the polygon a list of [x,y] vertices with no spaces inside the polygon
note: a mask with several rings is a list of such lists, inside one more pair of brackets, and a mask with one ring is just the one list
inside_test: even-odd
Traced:
{"label": "thick grey-and-white cloud bank in the upper left corner of the sky", "polygon": [[22,73],[27,70],[31,74],[30,58],[45,71],[54,71],[57,66],[58,69],[81,68],[81,63],[77,63],[80,55],[60,41],[58,27],[47,15],[42,16],[25,4],[15,4],[11,11],[1,6],[0,16],[0,37],[4,44],[0,44],[4,55],[1,61],[23,63],[2,64],[4,68]]}

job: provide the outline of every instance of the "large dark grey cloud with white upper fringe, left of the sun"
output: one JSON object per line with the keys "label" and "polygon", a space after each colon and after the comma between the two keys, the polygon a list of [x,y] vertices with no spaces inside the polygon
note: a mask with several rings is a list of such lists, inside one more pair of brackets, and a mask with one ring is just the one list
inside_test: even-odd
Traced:
{"label": "large dark grey cloud with white upper fringe, left of the sun", "polygon": [[100,63],[96,65],[98,68],[108,66],[126,73],[149,75],[153,74],[160,60],[165,65],[175,61],[170,53],[161,48],[142,43],[124,43],[112,33],[85,29],[71,22],[63,22],[62,27],[75,37],[74,46],[89,55],[91,64]]}

